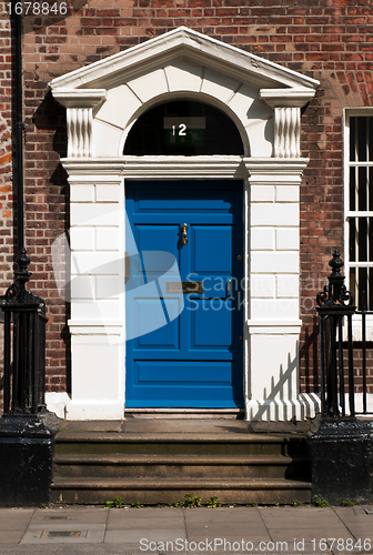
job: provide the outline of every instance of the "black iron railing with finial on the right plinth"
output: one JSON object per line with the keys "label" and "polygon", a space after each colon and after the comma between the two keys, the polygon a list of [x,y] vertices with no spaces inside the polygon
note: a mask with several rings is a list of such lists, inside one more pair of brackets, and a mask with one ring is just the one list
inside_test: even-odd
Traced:
{"label": "black iron railing with finial on the right plinth", "polygon": [[[366,316],[371,314],[363,306],[356,311],[353,296],[344,285],[341,274],[343,262],[337,251],[329,262],[332,273],[329,284],[317,294],[316,307],[320,319],[320,379],[321,412],[324,417],[355,416],[367,414],[367,370],[366,370]],[[361,337],[354,341],[353,326]],[[356,384],[355,366],[357,351],[361,350],[362,383]],[[362,411],[355,406],[356,390],[361,389]],[[347,406],[346,406],[347,405]]]}

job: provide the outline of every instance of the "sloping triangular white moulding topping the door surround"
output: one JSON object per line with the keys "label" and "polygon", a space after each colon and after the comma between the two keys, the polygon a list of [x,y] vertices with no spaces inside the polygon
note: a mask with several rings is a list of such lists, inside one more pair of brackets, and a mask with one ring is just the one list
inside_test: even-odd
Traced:
{"label": "sloping triangular white moulding topping the door surround", "polygon": [[185,60],[230,75],[258,88],[314,90],[319,82],[216,39],[180,27],[165,34],[53,79],[61,89],[110,89],[123,79],[151,71],[165,61]]}

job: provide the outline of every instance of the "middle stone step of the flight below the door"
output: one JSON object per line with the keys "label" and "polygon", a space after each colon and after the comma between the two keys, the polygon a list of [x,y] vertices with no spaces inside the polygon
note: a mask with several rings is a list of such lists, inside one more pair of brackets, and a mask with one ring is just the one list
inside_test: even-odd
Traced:
{"label": "middle stone step of the flight below the door", "polygon": [[289,456],[64,455],[54,457],[62,478],[308,478],[308,460]]}

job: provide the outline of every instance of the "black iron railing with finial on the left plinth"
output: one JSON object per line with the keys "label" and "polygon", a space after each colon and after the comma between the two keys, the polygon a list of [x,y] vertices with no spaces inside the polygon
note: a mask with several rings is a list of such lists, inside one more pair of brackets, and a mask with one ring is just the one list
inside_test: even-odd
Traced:
{"label": "black iron railing with finial on the left plinth", "polygon": [[46,303],[24,287],[30,262],[18,256],[16,283],[1,303],[3,312],[3,414],[36,415],[46,410]]}

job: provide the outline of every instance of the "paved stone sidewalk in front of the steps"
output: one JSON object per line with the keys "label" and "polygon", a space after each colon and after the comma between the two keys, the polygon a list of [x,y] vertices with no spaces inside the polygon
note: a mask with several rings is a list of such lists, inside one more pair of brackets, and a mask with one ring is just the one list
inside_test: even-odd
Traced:
{"label": "paved stone sidewalk in front of the steps", "polygon": [[373,553],[373,505],[0,509],[0,555]]}

